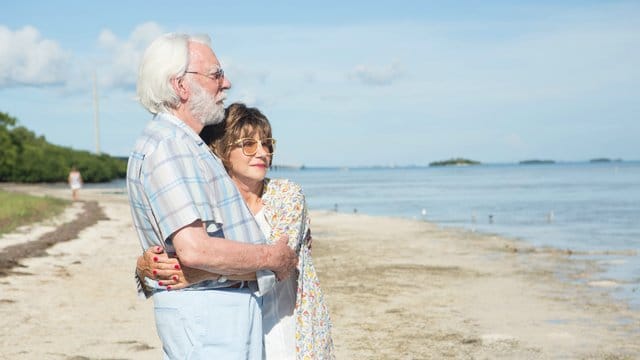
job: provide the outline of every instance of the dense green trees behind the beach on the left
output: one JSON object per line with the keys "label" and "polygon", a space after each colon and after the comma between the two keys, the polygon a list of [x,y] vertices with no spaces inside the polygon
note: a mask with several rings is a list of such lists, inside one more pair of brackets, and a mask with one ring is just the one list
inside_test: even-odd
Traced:
{"label": "dense green trees behind the beach on the left", "polygon": [[16,126],[17,122],[0,112],[0,182],[67,181],[71,166],[80,170],[85,182],[106,182],[126,175],[124,158],[50,144],[44,136]]}

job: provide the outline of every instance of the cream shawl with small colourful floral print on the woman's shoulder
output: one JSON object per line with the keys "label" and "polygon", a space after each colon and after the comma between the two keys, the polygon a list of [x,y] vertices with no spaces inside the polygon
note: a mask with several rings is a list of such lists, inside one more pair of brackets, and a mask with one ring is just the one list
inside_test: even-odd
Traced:
{"label": "cream shawl with small colourful floral print on the woman's shoulder", "polygon": [[297,359],[334,359],[329,310],[307,246],[309,216],[300,185],[286,179],[265,179],[264,214],[271,225],[269,241],[289,236],[298,252],[298,290],[294,316]]}

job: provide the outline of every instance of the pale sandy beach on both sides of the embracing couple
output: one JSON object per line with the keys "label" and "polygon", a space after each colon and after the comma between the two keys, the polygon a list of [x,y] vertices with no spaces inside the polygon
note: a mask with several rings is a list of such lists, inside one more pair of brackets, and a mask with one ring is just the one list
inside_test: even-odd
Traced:
{"label": "pale sandy beach on both sides of the embracing couple", "polygon": [[[69,198],[66,188],[0,189]],[[126,196],[87,190],[105,219],[0,277],[0,359],[158,359]],[[33,241],[62,215],[0,237]],[[417,221],[312,212],[313,254],[338,359],[636,359],[640,311],[594,263]],[[578,281],[567,281],[572,279]]]}

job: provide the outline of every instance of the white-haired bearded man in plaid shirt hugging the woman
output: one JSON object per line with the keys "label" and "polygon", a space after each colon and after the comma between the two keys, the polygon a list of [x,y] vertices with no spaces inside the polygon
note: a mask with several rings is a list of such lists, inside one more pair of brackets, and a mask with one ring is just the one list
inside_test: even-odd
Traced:
{"label": "white-haired bearded man in plaid shirt hugging the woman", "polygon": [[[261,359],[259,295],[296,264],[286,238],[266,245],[224,166],[198,136],[222,121],[230,87],[207,36],[163,35],[140,65],[138,97],[154,114],[127,169],[140,243],[164,247],[185,267],[220,274],[173,291],[145,279],[166,359]],[[251,272],[257,281],[231,280]]]}

